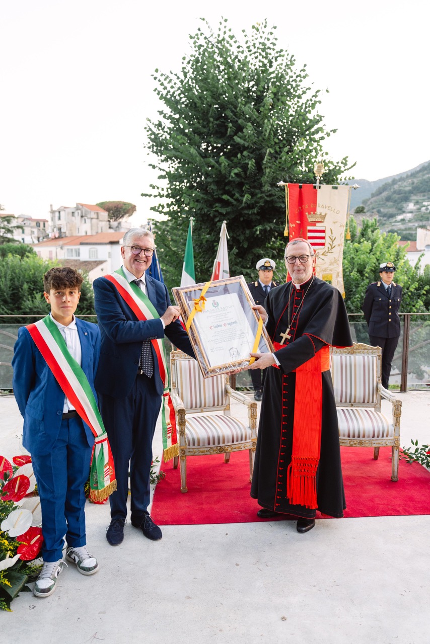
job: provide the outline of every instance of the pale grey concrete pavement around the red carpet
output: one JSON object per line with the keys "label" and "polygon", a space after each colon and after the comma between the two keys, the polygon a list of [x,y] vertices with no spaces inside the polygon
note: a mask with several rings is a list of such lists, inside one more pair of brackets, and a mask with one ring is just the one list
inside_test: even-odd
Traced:
{"label": "pale grey concrete pavement around the red carpet", "polygon": [[[398,396],[401,445],[429,444],[430,392]],[[0,397],[0,417],[0,454],[12,457],[21,435],[12,396]],[[154,451],[161,453],[159,432]],[[52,596],[22,592],[14,612],[0,612],[2,641],[429,641],[428,515],[325,519],[306,535],[287,521],[164,526],[160,542],[128,525],[115,548],[108,523],[107,505],[87,504],[99,573],[84,577],[70,564]]]}

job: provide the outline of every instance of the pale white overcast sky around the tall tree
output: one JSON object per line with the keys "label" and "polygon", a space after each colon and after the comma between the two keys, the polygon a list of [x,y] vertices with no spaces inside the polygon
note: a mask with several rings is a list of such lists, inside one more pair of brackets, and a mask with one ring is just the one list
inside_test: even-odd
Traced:
{"label": "pale white overcast sky around the tall tree", "polygon": [[[430,160],[429,3],[344,0],[0,0],[0,203],[137,205],[153,180],[144,125],[157,115],[151,73],[177,70],[206,17],[233,31],[267,18],[322,95],[326,150],[375,180]],[[236,8],[237,7],[237,8]],[[283,177],[280,177],[280,180]],[[280,196],[282,199],[282,196]]]}

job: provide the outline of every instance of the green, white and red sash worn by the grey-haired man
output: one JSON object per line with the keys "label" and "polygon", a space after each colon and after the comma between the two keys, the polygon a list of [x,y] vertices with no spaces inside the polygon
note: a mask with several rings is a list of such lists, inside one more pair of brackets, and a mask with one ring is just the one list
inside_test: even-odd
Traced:
{"label": "green, white and red sash worn by the grey-haired man", "polygon": [[[135,284],[128,282],[122,268],[115,270],[110,275],[105,275],[104,278],[112,282],[121,298],[132,309],[138,320],[159,319],[160,316],[150,298]],[[161,427],[163,457],[164,461],[167,461],[179,455],[175,410],[173,409],[169,392],[169,375],[164,353],[164,342],[162,338],[150,340],[150,342],[157,356],[157,365],[154,365],[154,367],[158,368],[164,387],[161,405]]]}

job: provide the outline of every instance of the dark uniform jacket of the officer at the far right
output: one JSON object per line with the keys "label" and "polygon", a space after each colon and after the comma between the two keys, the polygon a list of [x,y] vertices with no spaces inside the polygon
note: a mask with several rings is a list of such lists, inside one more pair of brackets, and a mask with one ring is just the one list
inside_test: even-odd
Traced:
{"label": "dark uniform jacket of the officer at the far right", "polygon": [[[379,284],[379,286],[378,286]],[[364,296],[362,311],[369,327],[369,336],[399,337],[402,287],[391,283],[391,298],[381,281],[369,284]]]}

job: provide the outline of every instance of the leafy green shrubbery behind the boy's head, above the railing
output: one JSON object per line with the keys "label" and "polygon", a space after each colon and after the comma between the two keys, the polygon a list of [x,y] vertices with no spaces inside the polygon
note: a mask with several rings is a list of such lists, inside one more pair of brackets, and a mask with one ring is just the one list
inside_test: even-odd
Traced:
{"label": "leafy green shrubbery behind the boy's head, above the railing", "polygon": [[[0,315],[37,315],[50,311],[43,297],[43,276],[55,263],[35,254],[8,254],[0,262]],[[86,277],[81,287],[77,314],[93,314],[93,290]],[[28,323],[28,319],[13,319]]]}

